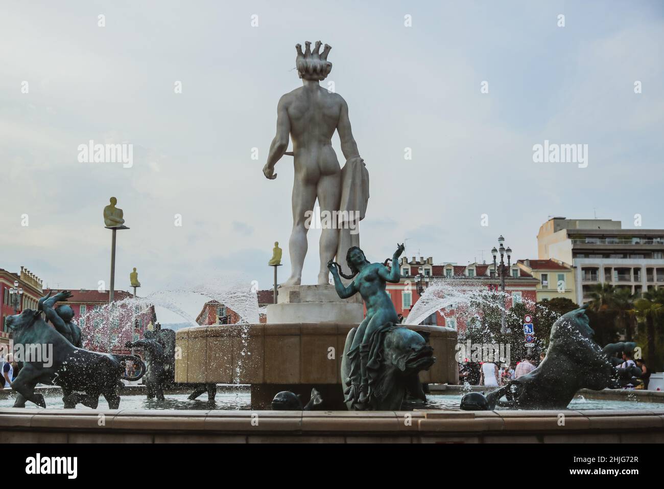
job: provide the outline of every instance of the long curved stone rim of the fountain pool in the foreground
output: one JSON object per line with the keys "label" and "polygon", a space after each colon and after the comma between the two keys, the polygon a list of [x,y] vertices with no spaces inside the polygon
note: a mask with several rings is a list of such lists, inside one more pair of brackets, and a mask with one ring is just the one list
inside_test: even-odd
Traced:
{"label": "long curved stone rim of the fountain pool in the foreground", "polygon": [[664,442],[664,409],[0,409],[0,442]]}

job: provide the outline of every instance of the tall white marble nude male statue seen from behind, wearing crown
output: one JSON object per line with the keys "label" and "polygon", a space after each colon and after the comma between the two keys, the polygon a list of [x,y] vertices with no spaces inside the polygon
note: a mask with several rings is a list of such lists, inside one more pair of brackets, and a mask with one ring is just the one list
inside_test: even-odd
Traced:
{"label": "tall white marble nude male statue seen from behind, wearing crown", "polygon": [[[363,168],[364,163],[359,156],[357,144],[351,132],[351,122],[348,118],[348,105],[341,95],[329,92],[327,88],[319,85],[329,75],[332,63],[327,61],[331,49],[325,45],[323,53],[319,53],[321,42],[317,41],[313,52],[311,43],[305,43],[305,52],[301,45],[296,45],[297,57],[295,65],[297,74],[302,79],[302,85],[292,92],[282,96],[277,106],[277,132],[270,145],[270,153],[263,173],[270,180],[274,180],[276,162],[284,156],[288,149],[288,136],[293,140],[293,159],[295,164],[295,182],[291,198],[293,210],[293,230],[288,242],[288,251],[291,259],[290,278],[282,285],[300,285],[304,257],[307,253],[307,216],[311,221],[311,211],[318,199],[321,215],[324,212],[339,211],[342,192],[345,195],[353,192],[355,182],[342,182],[342,171],[337,155],[332,148],[331,138],[335,129],[341,139],[341,151],[346,158],[346,168],[357,166]],[[366,172],[365,169],[360,170]],[[351,170],[348,170],[349,180]],[[364,186],[366,199],[368,194],[368,178]],[[351,188],[353,190],[348,190]],[[355,190],[357,194],[357,190]],[[360,198],[366,204],[366,199]],[[353,200],[353,197],[349,198]],[[357,200],[357,198],[355,199]],[[364,210],[361,218],[364,217]],[[356,223],[357,224],[357,223]],[[345,235],[344,235],[345,236]],[[353,238],[359,241],[359,237]],[[349,245],[346,245],[348,247]],[[320,268],[318,284],[327,285],[329,270],[327,262],[337,255],[339,247],[339,230],[337,226],[323,226],[320,240]],[[345,251],[343,251],[345,256]]]}

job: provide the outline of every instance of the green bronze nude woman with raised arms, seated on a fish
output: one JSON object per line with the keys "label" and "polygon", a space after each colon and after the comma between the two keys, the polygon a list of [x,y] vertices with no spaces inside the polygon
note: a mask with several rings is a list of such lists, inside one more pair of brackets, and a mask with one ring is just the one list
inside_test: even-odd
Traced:
{"label": "green bronze nude woman with raised arms, seated on a fish", "polygon": [[[345,379],[347,386],[344,391],[345,403],[367,405],[371,401],[374,373],[379,367],[376,358],[378,349],[373,348],[374,337],[384,327],[399,323],[394,304],[385,291],[385,285],[387,282],[400,281],[398,259],[403,251],[404,245],[398,245],[392,255],[392,269],[388,269],[382,263],[369,263],[365,253],[357,246],[349,248],[346,255],[351,275],[342,273],[338,263],[334,261],[327,263],[339,297],[347,299],[359,292],[367,307],[367,317],[357,328],[347,353],[351,371],[349,377]],[[351,283],[346,287],[339,275],[351,280]]]}

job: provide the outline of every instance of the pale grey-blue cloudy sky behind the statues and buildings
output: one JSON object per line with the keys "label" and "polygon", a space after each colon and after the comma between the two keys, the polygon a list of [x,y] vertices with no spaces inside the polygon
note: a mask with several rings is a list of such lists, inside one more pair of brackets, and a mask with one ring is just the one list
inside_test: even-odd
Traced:
{"label": "pale grey-blue cloudy sky behind the statues and buildings", "polygon": [[[517,258],[537,257],[548,216],[631,228],[641,214],[664,228],[663,5],[4,1],[0,267],[58,288],[108,281],[102,210],[116,196],[131,228],[118,234],[117,288],[131,267],[141,295],[208,280],[269,288],[274,241],[285,279],[292,160],[276,180],[262,167],[277,101],[301,84],[294,46],[319,39],[371,175],[370,259],[405,240],[409,257],[488,260],[499,234]],[[88,140],[133,144],[133,166],[79,162]],[[544,140],[587,144],[588,166],[534,162]],[[193,315],[202,303],[183,299]]]}

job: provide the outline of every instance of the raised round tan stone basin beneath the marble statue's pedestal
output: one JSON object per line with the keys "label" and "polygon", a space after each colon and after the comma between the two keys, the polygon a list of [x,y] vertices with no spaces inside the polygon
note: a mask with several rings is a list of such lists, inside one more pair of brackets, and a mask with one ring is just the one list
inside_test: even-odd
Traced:
{"label": "raised round tan stone basin beneath the marble statue's pedestal", "polygon": [[[330,408],[343,408],[341,357],[355,323],[210,325],[177,331],[175,381],[252,385],[252,405],[268,407],[279,391],[309,399],[316,387]],[[429,333],[436,363],[420,373],[424,383],[458,381],[457,332],[406,326]]]}

